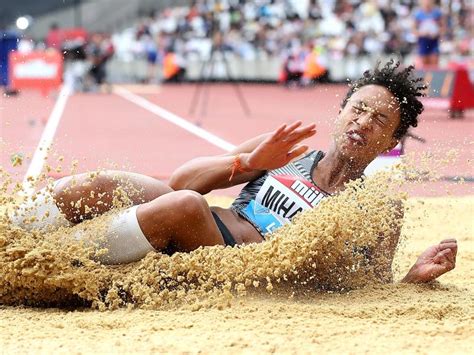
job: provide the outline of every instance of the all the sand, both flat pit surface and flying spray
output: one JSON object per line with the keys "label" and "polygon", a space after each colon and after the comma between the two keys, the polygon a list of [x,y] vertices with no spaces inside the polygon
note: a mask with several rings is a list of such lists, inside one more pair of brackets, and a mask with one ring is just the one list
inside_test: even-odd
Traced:
{"label": "all the sand, both flat pit surface and flying spray", "polygon": [[[467,353],[474,332],[467,281],[474,277],[468,222],[474,199],[406,201],[395,279],[446,237],[459,241],[458,265],[428,285],[381,284],[385,257],[368,255],[379,235],[399,227],[391,187],[386,179],[368,179],[364,188],[355,182],[263,244],[150,254],[117,267],[95,262],[93,248],[67,242],[79,229],[100,236],[109,215],[52,233],[26,233],[4,216],[0,347],[7,353]],[[15,204],[12,190],[3,191],[2,206]],[[230,201],[211,196],[209,203]],[[115,310],[98,311],[108,309]]]}

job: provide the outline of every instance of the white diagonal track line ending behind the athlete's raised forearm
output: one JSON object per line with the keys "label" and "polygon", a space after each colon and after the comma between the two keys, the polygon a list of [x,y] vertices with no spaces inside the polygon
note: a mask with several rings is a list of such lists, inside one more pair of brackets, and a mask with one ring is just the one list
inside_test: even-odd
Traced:
{"label": "white diagonal track line ending behind the athlete's raised forearm", "polygon": [[179,117],[178,115],[175,115],[174,113],[165,110],[164,108],[148,101],[147,99],[135,95],[132,92],[130,92],[127,89],[124,89],[122,87],[116,86],[114,88],[115,94],[118,96],[134,103],[135,105],[140,106],[141,108],[144,108],[147,111],[150,111],[151,113],[155,114],[156,116],[171,122],[175,124],[178,127],[183,128],[184,130],[198,136],[199,138],[204,139],[205,141],[209,142],[210,144],[213,144],[227,152],[231,151],[232,149],[235,148],[235,145],[225,141],[224,139],[212,134],[209,131],[206,131],[205,129],[202,129],[200,127],[196,127],[194,124],[190,123],[189,121],[185,120],[182,117]]}

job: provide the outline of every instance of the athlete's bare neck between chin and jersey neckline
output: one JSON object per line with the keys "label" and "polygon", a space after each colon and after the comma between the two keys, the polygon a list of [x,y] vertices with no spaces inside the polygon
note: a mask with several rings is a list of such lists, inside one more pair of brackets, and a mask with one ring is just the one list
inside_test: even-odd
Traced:
{"label": "athlete's bare neck between chin and jersey neckline", "polygon": [[358,179],[367,164],[360,164],[332,146],[313,171],[313,180],[326,192],[335,193],[350,180]]}

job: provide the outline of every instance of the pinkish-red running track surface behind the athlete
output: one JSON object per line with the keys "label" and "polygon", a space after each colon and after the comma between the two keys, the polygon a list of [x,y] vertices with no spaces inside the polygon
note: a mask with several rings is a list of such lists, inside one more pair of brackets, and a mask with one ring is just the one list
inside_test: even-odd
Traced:
{"label": "pinkish-red running track surface behind the athlete", "polygon": [[[190,115],[195,85],[134,87],[133,92],[197,126],[232,143],[239,144],[257,134],[270,131],[284,122],[316,122],[318,133],[308,141],[311,147],[323,149],[330,141],[334,117],[346,87],[325,85],[314,89],[288,90],[272,85],[241,85],[251,116],[245,116],[234,87],[209,85]],[[207,92],[205,91],[207,90]],[[152,92],[150,92],[152,91]],[[205,97],[207,96],[207,105]],[[2,98],[2,139],[8,149],[2,150],[2,166],[9,165],[9,154],[15,151],[31,154],[42,130],[42,121],[52,109],[53,100],[34,94]],[[202,107],[206,113],[203,115]],[[35,118],[35,124],[30,123]],[[426,144],[409,141],[407,152],[447,151],[456,149],[458,160],[441,169],[444,175],[473,176],[474,115],[453,121],[444,111],[427,111],[414,133],[427,139]],[[4,122],[5,121],[5,122]],[[6,122],[10,125],[7,126]],[[79,172],[114,167],[166,179],[185,161],[224,151],[202,138],[184,131],[153,113],[115,94],[75,94],[69,98],[54,140],[54,152],[79,161]],[[50,159],[54,161],[53,159]],[[20,176],[28,162],[17,171]],[[435,165],[435,162],[433,162]],[[67,174],[68,170],[62,174]],[[22,176],[21,176],[22,177]],[[408,184],[416,195],[445,196],[472,194],[474,184],[437,182]],[[446,192],[447,191],[447,192]],[[231,189],[226,193],[235,193]]]}

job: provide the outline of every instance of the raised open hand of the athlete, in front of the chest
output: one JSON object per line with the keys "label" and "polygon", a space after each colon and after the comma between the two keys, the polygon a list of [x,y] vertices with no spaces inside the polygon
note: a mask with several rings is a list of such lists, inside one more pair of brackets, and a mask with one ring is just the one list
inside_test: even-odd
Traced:
{"label": "raised open hand of the athlete, in front of the chest", "polygon": [[245,167],[251,170],[278,169],[306,152],[308,146],[299,143],[316,133],[316,125],[301,125],[302,122],[297,121],[289,126],[280,126],[245,157]]}

